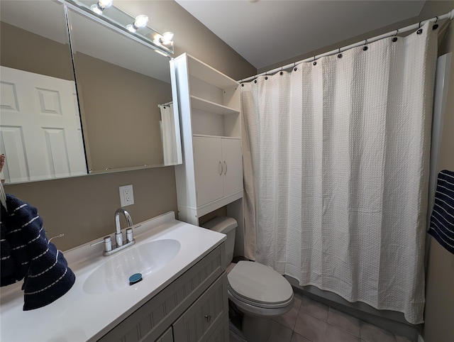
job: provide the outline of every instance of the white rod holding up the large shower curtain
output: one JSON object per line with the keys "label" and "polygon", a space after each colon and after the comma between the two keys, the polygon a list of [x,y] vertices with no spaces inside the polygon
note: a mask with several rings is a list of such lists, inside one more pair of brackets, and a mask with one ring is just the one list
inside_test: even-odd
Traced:
{"label": "white rod holding up the large shower curtain", "polygon": [[408,31],[414,30],[415,28],[420,28],[421,26],[423,26],[424,24],[428,23],[429,21],[437,22],[437,21],[441,21],[441,20],[445,20],[445,19],[452,20],[453,18],[454,18],[454,9],[452,11],[448,12],[448,13],[443,14],[443,16],[436,16],[435,18],[430,18],[430,19],[428,19],[426,21],[420,21],[419,23],[415,23],[413,25],[406,26],[404,28],[398,28],[395,31],[384,33],[382,35],[377,35],[376,37],[373,37],[373,38],[370,38],[370,39],[366,39],[366,40],[362,40],[362,41],[360,41],[358,43],[354,43],[354,44],[351,44],[351,45],[348,45],[348,46],[344,46],[343,48],[338,48],[336,50],[331,50],[328,53],[322,53],[321,55],[315,55],[314,57],[309,57],[309,58],[306,58],[305,60],[300,60],[299,62],[293,62],[293,63],[287,64],[287,65],[284,65],[283,67],[277,67],[277,68],[275,68],[273,70],[269,70],[267,72],[262,72],[261,74],[258,74],[258,75],[255,75],[255,76],[251,76],[251,77],[248,77],[248,78],[245,78],[245,79],[241,79],[238,82],[239,83],[248,82],[248,81],[250,81],[252,79],[255,79],[255,78],[259,77],[259,76],[271,75],[271,74],[274,74],[275,72],[282,71],[282,70],[285,70],[285,69],[289,69],[290,67],[294,67],[295,65],[297,65],[299,63],[302,63],[302,62],[313,62],[314,60],[318,60],[321,57],[335,55],[336,53],[341,53],[341,52],[343,52],[345,50],[349,50],[351,48],[356,48],[357,46],[365,45],[365,44],[368,44],[368,43],[373,43],[373,42],[375,42],[377,40],[380,40],[380,39],[392,37],[393,35],[398,35],[399,33],[408,32]]}

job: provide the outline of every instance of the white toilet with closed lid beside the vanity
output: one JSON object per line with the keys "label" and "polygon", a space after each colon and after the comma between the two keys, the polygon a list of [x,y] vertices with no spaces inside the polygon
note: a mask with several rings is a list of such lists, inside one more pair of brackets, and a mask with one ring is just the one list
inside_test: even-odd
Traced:
{"label": "white toilet with closed lid beside the vanity", "polygon": [[244,314],[243,335],[248,342],[268,341],[272,332],[270,318],[281,316],[293,307],[292,286],[278,272],[260,263],[231,264],[238,226],[235,219],[218,216],[202,226],[227,235],[228,299]]}

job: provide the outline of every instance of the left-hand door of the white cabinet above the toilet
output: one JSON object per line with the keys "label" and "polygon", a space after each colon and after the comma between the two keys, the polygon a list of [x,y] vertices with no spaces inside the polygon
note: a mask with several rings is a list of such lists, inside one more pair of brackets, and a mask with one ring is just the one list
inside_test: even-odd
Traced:
{"label": "left-hand door of the white cabinet above the toilet", "polygon": [[197,206],[223,197],[221,138],[194,136],[194,171]]}

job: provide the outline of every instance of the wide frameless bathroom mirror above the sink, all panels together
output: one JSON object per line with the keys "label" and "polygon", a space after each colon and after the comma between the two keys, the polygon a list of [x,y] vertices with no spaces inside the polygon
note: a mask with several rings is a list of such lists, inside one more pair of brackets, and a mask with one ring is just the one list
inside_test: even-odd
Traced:
{"label": "wide frameless bathroom mirror above the sink, all panels together", "polygon": [[[126,13],[122,15],[127,18]],[[74,4],[51,0],[2,3],[0,148],[6,154],[7,183],[182,162],[177,106],[172,111],[176,94],[172,95],[169,57],[134,38]],[[38,62],[44,66],[38,67]],[[45,109],[46,119],[63,116],[63,111],[72,113],[74,128],[38,122],[33,133],[42,137],[38,145],[29,133],[32,128],[7,121],[7,114],[16,115],[16,107],[23,106],[15,95],[19,86],[5,79],[4,67],[70,83],[67,96],[62,96],[60,87],[39,86],[35,87],[38,94],[32,98],[29,92],[25,98]],[[67,109],[70,105],[71,110]],[[30,170],[34,163],[40,164],[35,173]]]}

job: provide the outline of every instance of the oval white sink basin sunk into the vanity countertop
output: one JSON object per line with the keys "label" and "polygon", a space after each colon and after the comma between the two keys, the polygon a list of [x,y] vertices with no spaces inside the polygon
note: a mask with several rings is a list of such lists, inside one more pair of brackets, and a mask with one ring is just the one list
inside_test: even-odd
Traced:
{"label": "oval white sink basin sunk into the vanity countertop", "polygon": [[118,255],[109,255],[105,257],[106,262],[87,277],[84,292],[103,294],[131,287],[131,275],[141,273],[145,280],[148,275],[153,275],[175,258],[180,248],[179,241],[165,239],[131,246],[118,252]]}

